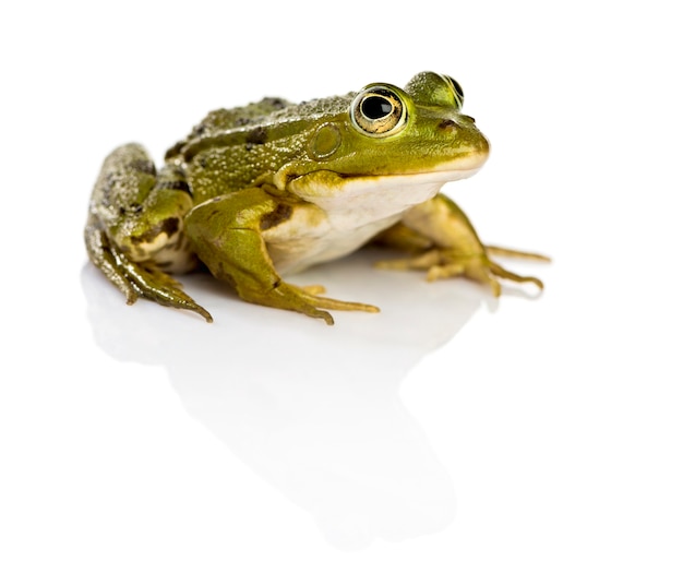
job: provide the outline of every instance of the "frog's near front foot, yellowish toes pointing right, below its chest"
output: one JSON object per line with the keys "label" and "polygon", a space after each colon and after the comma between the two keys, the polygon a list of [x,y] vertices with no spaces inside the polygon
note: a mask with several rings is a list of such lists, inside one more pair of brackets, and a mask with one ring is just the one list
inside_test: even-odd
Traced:
{"label": "frog's near front foot, yellowish toes pointing right, below its chest", "polygon": [[277,282],[269,289],[237,287],[240,297],[249,302],[297,311],[308,317],[322,319],[328,325],[334,325],[332,315],[323,309],[333,311],[366,311],[376,313],[379,308],[362,302],[348,302],[331,299],[319,295],[325,292],[321,286],[295,286],[284,280]]}

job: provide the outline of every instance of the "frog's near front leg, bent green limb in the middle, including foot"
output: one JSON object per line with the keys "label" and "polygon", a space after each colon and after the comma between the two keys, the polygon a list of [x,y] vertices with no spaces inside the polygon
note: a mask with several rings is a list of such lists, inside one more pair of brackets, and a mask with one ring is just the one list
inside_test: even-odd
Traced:
{"label": "frog's near front leg, bent green limb in the middle, including foot", "polygon": [[254,187],[197,205],[185,218],[185,231],[212,274],[243,300],[323,319],[328,325],[334,320],[323,309],[376,312],[370,305],[319,297],[320,287],[297,287],[276,272],[264,232],[298,212],[315,210],[274,188]]}

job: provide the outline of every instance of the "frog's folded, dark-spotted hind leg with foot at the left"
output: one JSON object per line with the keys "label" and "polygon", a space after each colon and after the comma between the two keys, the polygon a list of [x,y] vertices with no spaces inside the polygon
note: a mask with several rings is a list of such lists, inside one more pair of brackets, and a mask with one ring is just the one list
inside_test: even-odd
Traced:
{"label": "frog's folded, dark-spotted hind leg with foot at the left", "polygon": [[191,205],[180,171],[164,168],[157,176],[144,148],[121,146],[105,160],[93,190],[85,247],[129,305],[144,297],[211,322],[211,314],[163,272],[183,272],[194,261],[182,229]]}

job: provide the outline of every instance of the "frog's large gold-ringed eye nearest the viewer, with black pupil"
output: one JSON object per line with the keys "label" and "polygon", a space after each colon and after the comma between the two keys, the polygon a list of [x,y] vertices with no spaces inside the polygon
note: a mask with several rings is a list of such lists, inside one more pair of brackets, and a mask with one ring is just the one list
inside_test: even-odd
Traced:
{"label": "frog's large gold-ringed eye nearest the viewer, with black pupil", "polygon": [[400,96],[384,86],[368,87],[351,104],[351,121],[363,134],[386,136],[400,130],[407,108]]}

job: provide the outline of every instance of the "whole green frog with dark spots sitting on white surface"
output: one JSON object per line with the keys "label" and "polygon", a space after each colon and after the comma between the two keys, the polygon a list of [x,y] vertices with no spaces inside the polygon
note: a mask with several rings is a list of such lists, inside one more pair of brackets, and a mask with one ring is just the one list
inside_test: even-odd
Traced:
{"label": "whole green frog with dark spots sitting on white surface", "polygon": [[370,83],[340,96],[265,97],[211,111],[157,170],[139,143],[115,148],[95,182],[87,254],[125,296],[211,313],[178,274],[207,270],[252,303],[334,323],[331,311],[379,308],[286,277],[367,244],[400,250],[380,268],[429,280],[462,276],[500,296],[502,283],[543,283],[494,256],[548,260],[486,246],[444,184],[475,175],[490,145],[463,110],[454,77],[424,71],[403,87]]}

